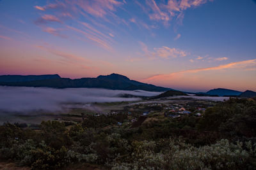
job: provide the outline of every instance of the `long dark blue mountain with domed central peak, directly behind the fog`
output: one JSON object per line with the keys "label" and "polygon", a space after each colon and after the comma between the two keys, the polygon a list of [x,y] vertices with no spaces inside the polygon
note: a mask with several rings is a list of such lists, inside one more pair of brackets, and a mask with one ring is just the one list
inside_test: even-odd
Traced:
{"label": "long dark blue mountain with domed central peak, directly behind the fog", "polygon": [[[47,75],[42,75],[47,76]],[[173,90],[164,87],[157,87],[147,83],[130,80],[126,76],[120,74],[110,74],[106,76],[98,76],[97,78],[56,78],[40,79],[31,81],[3,81],[0,80],[0,85],[7,86],[24,86],[24,87],[52,87],[52,88],[102,88],[112,90],[146,90],[154,92],[164,92],[166,90]]]}

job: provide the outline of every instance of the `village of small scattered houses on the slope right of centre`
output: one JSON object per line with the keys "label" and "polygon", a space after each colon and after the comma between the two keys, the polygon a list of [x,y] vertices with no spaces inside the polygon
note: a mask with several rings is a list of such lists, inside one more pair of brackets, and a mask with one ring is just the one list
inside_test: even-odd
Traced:
{"label": "village of small scattered houses on the slope right of centre", "polygon": [[[107,115],[127,114],[128,119],[117,125],[131,125],[138,127],[150,118],[180,118],[203,117],[206,108],[214,106],[214,101],[159,101],[151,103],[136,103],[124,107],[124,110],[111,110]],[[99,116],[99,114],[95,115]]]}

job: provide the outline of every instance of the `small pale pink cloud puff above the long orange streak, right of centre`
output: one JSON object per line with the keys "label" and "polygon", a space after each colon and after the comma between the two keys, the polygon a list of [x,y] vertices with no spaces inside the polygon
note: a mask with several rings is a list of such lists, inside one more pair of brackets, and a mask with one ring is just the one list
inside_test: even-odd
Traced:
{"label": "small pale pink cloud puff above the long orange streak, right of centre", "polygon": [[144,55],[150,59],[156,59],[156,58],[163,58],[163,59],[169,59],[169,58],[176,58],[176,57],[185,57],[188,55],[188,52],[185,52],[183,50],[180,50],[178,48],[170,48],[168,46],[161,46],[159,48],[154,48],[154,51],[148,50],[147,45],[145,43],[139,42],[141,45],[141,50],[144,52]]}

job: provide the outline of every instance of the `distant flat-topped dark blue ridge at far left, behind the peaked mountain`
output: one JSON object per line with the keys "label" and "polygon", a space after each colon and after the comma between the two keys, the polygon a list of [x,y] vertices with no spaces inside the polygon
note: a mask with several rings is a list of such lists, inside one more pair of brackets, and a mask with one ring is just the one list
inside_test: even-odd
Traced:
{"label": "distant flat-topped dark blue ridge at far left, behind the peaked mountain", "polygon": [[39,75],[39,76],[3,75],[3,76],[0,76],[0,81],[22,82],[22,81],[35,81],[35,80],[49,80],[54,78],[61,78],[61,77],[58,74],[45,74],[45,75]]}

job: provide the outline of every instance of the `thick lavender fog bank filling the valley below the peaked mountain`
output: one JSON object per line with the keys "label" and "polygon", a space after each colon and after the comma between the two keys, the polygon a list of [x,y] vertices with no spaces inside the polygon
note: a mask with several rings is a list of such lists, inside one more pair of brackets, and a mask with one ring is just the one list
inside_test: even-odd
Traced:
{"label": "thick lavender fog bank filling the valley below the peaked mountain", "polygon": [[[0,111],[61,110],[61,103],[104,103],[117,101],[138,101],[140,98],[116,97],[120,94],[133,96],[156,96],[160,92],[143,90],[107,89],[51,89],[40,87],[1,87]],[[1,112],[0,112],[1,113]]]}

